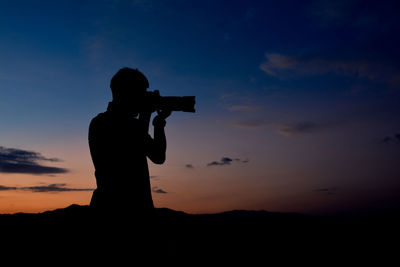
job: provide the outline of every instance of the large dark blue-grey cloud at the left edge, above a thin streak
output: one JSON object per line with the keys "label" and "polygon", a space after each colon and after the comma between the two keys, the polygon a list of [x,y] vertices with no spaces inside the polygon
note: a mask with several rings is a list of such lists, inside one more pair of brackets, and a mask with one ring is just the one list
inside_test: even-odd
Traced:
{"label": "large dark blue-grey cloud at the left edge, above a thin streak", "polygon": [[57,158],[46,158],[38,152],[6,148],[0,146],[0,172],[24,174],[58,174],[66,173],[67,169],[39,164],[39,161],[59,162]]}

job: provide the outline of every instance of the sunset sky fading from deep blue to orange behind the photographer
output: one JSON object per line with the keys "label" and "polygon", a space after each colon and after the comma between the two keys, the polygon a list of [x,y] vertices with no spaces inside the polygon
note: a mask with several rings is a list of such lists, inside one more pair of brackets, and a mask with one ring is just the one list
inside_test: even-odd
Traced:
{"label": "sunset sky fading from deep blue to orange behind the photographer", "polygon": [[[90,120],[121,67],[162,95],[156,207],[391,210],[400,200],[398,1],[0,1],[0,213],[90,202]],[[124,186],[121,184],[121,186]]]}

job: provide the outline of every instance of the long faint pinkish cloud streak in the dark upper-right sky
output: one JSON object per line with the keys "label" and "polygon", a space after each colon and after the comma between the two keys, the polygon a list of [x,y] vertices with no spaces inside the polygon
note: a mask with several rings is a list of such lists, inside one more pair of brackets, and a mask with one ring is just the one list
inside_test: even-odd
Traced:
{"label": "long faint pinkish cloud streak in the dark upper-right sky", "polygon": [[400,84],[400,70],[384,62],[300,57],[279,53],[266,53],[265,57],[267,61],[260,65],[260,69],[281,79],[333,73],[385,82],[392,86]]}

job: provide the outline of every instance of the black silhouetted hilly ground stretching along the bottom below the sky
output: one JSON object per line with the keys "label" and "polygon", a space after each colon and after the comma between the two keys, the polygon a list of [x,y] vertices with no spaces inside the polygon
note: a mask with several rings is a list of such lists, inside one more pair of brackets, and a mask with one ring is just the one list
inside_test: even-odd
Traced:
{"label": "black silhouetted hilly ground stretching along the bottom below the sky", "polygon": [[128,211],[99,216],[79,205],[0,215],[2,244],[8,248],[62,251],[96,260],[99,255],[230,261],[358,259],[397,251],[397,223],[395,217],[348,219],[246,210],[192,215],[166,208],[151,216]]}

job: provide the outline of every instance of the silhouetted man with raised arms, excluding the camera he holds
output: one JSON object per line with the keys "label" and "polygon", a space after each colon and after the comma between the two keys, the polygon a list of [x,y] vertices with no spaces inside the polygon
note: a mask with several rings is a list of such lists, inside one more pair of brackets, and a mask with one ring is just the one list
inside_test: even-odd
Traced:
{"label": "silhouetted man with raised arms, excluding the camera he holds", "polygon": [[143,111],[147,78],[137,69],[123,68],[111,79],[110,87],[112,102],[106,112],[93,118],[89,127],[97,182],[90,206],[108,212],[149,212],[154,205],[146,157],[156,164],[164,163],[165,119],[171,112],[157,111],[153,139],[148,127],[155,110],[147,106]]}

